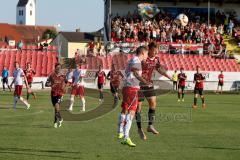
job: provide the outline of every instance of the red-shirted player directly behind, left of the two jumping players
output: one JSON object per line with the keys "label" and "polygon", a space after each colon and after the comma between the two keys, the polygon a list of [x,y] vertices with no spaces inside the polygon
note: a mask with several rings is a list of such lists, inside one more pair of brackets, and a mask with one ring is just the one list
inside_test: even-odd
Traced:
{"label": "red-shirted player directly behind, left of the two jumping players", "polygon": [[121,80],[124,78],[123,74],[121,71],[117,71],[115,68],[115,65],[112,64],[112,70],[109,71],[107,74],[107,79],[110,80],[110,88],[111,92],[114,96],[114,103],[116,103],[120,97],[119,97],[119,85]]}

